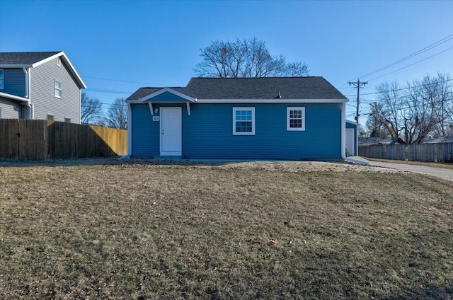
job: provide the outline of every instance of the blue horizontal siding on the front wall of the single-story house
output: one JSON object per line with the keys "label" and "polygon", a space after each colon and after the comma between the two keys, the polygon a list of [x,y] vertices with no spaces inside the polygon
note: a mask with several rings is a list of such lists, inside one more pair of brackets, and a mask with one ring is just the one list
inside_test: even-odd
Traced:
{"label": "blue horizontal siding on the front wall of the single-story house", "polygon": [[[184,158],[341,158],[341,104],[190,104],[191,115],[185,105],[176,106],[183,108]],[[234,107],[255,108],[255,135],[233,134]],[[287,131],[287,107],[305,108],[305,131]],[[152,121],[148,105],[132,104],[132,156],[154,155],[159,122]]]}

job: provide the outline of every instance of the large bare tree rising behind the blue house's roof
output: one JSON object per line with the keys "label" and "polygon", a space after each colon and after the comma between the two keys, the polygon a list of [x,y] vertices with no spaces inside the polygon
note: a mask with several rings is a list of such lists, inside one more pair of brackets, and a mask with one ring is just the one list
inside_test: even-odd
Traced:
{"label": "large bare tree rising behind the blue house's roof", "polygon": [[285,57],[272,56],[265,42],[253,37],[235,42],[216,40],[200,49],[202,62],[195,73],[202,77],[280,77],[307,76],[302,62],[287,63]]}

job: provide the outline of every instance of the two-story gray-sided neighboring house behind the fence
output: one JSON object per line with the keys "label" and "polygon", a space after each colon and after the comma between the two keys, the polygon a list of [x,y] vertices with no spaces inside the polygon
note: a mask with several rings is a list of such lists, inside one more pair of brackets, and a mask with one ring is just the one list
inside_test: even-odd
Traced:
{"label": "two-story gray-sided neighboring house behind the fence", "polygon": [[86,88],[64,52],[0,52],[0,118],[80,124]]}

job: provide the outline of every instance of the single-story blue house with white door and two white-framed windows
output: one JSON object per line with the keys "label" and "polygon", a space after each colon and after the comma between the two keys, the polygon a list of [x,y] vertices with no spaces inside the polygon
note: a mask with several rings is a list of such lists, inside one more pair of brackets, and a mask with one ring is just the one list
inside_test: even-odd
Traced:
{"label": "single-story blue house with white door and two white-framed windows", "polygon": [[345,103],[323,77],[193,78],[126,103],[128,156],[345,158]]}

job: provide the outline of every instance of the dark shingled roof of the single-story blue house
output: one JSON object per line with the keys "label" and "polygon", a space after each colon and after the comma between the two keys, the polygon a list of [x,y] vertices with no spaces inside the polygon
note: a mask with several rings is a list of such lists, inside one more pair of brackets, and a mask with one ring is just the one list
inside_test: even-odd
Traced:
{"label": "dark shingled roof of the single-story blue house", "polygon": [[[197,99],[342,99],[321,76],[261,78],[193,78],[185,88],[171,88]],[[139,100],[161,88],[139,88],[127,100]]]}

